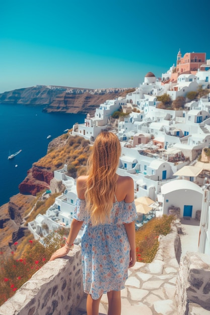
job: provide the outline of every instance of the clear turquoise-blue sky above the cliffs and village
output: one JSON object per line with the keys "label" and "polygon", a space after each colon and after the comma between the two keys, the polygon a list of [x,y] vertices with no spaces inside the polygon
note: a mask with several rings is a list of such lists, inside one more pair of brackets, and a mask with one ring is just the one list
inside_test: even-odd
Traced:
{"label": "clear turquoise-blue sky above the cliffs and village", "polygon": [[3,0],[0,93],[137,87],[176,63],[179,48],[210,59],[209,12],[209,0]]}

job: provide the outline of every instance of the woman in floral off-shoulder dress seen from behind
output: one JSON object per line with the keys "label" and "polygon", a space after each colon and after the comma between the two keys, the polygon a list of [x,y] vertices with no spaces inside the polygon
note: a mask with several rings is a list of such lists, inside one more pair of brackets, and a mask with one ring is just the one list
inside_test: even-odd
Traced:
{"label": "woman in floral off-shoulder dress seen from behind", "polygon": [[62,257],[73,248],[85,222],[81,246],[88,315],[98,315],[103,293],[108,296],[108,315],[120,315],[120,290],[128,268],[136,261],[133,180],[116,174],[120,154],[115,134],[101,132],[97,136],[88,175],[77,179],[78,198],[66,244],[50,258]]}

